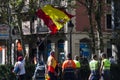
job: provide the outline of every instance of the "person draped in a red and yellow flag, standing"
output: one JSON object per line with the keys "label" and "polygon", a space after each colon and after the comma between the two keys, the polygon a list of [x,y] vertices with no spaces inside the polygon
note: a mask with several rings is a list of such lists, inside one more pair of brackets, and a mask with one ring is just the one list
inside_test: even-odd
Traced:
{"label": "person draped in a red and yellow flag, standing", "polygon": [[47,60],[47,72],[49,76],[49,80],[56,80],[57,72],[55,71],[55,68],[57,66],[57,60],[55,58],[55,52],[51,51],[50,56]]}

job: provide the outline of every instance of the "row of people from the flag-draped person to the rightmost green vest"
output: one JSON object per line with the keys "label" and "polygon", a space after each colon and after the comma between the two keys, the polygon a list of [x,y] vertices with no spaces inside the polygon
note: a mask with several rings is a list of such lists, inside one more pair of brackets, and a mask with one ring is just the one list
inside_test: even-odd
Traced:
{"label": "row of people from the flag-draped person to the rightmost green vest", "polygon": [[46,80],[110,80],[111,62],[106,54],[102,54],[101,60],[94,54],[88,61],[78,55],[72,59],[71,53],[68,53],[63,63],[58,63],[54,54],[52,51],[47,60],[49,78]]}

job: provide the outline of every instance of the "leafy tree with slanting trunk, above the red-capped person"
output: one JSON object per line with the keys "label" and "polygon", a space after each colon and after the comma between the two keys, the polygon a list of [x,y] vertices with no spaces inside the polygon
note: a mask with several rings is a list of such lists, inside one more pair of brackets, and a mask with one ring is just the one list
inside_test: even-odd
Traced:
{"label": "leafy tree with slanting trunk, above the red-capped person", "polygon": [[9,1],[10,6],[11,6],[11,10],[12,10],[12,25],[13,26],[17,26],[18,31],[20,32],[20,37],[21,37],[21,44],[23,47],[23,54],[26,53],[25,51],[25,47],[24,47],[24,41],[23,41],[23,31],[22,31],[22,10],[24,5],[24,1],[23,0],[10,0]]}

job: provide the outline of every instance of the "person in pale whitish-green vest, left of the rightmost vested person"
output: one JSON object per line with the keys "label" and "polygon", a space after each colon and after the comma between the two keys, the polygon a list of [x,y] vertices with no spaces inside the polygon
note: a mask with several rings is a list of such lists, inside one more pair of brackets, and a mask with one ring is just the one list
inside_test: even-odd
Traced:
{"label": "person in pale whitish-green vest, left of the rightmost vested person", "polygon": [[89,66],[91,73],[88,80],[99,80],[99,62],[96,54],[93,55],[92,60],[89,62]]}

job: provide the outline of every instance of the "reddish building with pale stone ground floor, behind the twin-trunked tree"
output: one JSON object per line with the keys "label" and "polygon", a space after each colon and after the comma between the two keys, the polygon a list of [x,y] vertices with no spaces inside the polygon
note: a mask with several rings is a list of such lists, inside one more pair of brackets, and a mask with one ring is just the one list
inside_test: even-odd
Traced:
{"label": "reddish building with pale stone ground floor, behind the twin-trunked tree", "polygon": [[[111,25],[111,2],[109,0],[105,0],[104,3],[104,14],[101,17],[101,28],[103,33],[103,44],[104,44],[104,53],[107,53],[108,57],[112,56],[112,46],[110,43],[112,25]],[[73,33],[73,53],[78,55],[83,55],[86,57],[91,57],[91,37],[89,33],[90,23],[88,18],[88,13],[82,4],[79,4],[76,8],[76,18],[75,18],[75,29]],[[94,23],[93,23],[94,24]],[[96,27],[94,27],[96,28]],[[97,50],[98,40],[97,40],[97,31],[95,32],[95,49],[96,54],[100,55]],[[82,51],[81,51],[82,50]]]}

